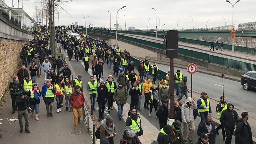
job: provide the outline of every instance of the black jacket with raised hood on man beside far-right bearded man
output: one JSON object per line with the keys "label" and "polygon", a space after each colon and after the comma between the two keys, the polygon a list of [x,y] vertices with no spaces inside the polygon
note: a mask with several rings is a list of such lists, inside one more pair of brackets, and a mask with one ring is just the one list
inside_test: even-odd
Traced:
{"label": "black jacket with raised hood on man beside far-right bearded man", "polygon": [[[228,103],[228,107],[230,107],[230,105],[232,105],[232,104]],[[222,126],[226,129],[230,129],[230,130],[235,129],[236,119],[238,118],[238,114],[234,110],[234,105],[232,105],[232,106],[233,106],[233,110],[230,111],[229,109],[225,109],[221,113],[221,119],[220,119]]]}

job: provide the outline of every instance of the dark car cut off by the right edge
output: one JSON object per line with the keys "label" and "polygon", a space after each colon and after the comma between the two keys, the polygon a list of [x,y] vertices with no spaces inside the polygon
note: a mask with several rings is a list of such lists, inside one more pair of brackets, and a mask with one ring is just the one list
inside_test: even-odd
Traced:
{"label": "dark car cut off by the right edge", "polygon": [[256,72],[250,71],[245,73],[241,78],[241,85],[243,85],[243,89],[256,89]]}

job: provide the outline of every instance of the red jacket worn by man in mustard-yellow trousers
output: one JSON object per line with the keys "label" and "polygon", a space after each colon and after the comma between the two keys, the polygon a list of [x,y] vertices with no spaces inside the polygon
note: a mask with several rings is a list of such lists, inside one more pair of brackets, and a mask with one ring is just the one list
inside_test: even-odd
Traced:
{"label": "red jacket worn by man in mustard-yellow trousers", "polygon": [[72,94],[70,95],[70,98],[69,98],[69,102],[70,102],[70,104],[73,105],[73,108],[78,109],[78,108],[83,107],[83,103],[85,102],[83,92],[80,91],[80,94],[76,94],[75,92],[72,92]]}

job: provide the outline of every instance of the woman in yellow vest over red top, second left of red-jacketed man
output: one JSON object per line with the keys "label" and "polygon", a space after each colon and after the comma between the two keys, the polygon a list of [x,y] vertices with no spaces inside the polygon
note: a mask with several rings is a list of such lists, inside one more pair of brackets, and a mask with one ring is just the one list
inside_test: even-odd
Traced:
{"label": "woman in yellow vest over red top, second left of red-jacketed man", "polygon": [[64,89],[64,83],[63,83],[63,79],[59,79],[57,84],[54,86],[54,98],[57,101],[57,113],[59,113],[61,111],[61,102],[62,102],[62,98],[63,98],[63,92],[65,91]]}

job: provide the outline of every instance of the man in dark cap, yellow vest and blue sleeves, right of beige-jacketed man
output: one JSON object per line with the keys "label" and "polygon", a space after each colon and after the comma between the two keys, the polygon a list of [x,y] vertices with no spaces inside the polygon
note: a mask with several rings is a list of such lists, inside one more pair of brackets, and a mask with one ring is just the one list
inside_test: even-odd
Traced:
{"label": "man in dark cap, yellow vest and blue sleeves, right of beige-jacketed man", "polygon": [[201,122],[203,122],[208,114],[211,115],[211,104],[208,99],[207,92],[201,93],[201,97],[197,100],[197,107],[201,116]]}

